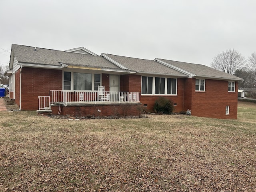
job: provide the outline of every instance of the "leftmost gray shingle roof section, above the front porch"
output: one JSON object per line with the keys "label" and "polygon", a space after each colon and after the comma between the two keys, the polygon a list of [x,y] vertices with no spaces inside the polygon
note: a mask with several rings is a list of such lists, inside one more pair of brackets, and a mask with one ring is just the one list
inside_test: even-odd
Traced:
{"label": "leftmost gray shingle roof section, above the front porch", "polygon": [[61,66],[60,63],[64,63],[74,66],[120,69],[118,66],[102,58],[101,56],[78,54],[44,48],[36,48],[35,51],[34,47],[16,44],[12,44],[12,51],[14,52],[18,62],[53,66]]}

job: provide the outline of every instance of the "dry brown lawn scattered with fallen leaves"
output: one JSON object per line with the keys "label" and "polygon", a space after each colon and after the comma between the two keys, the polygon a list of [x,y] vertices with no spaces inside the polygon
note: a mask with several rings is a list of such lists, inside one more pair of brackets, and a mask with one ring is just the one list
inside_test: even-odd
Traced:
{"label": "dry brown lawn scattered with fallen leaves", "polygon": [[256,191],[256,104],[238,120],[0,112],[2,191]]}

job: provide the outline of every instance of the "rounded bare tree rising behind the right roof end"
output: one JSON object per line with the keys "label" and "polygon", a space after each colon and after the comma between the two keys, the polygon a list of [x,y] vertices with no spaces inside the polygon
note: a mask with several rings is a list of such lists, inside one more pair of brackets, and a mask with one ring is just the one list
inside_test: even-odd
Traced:
{"label": "rounded bare tree rising behind the right roof end", "polygon": [[236,69],[241,68],[245,63],[244,56],[237,50],[229,49],[214,57],[211,66],[222,72],[233,74]]}

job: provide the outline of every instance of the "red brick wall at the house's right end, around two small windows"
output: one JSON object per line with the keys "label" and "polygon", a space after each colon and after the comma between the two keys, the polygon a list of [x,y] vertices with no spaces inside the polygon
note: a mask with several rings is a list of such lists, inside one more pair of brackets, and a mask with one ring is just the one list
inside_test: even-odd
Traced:
{"label": "red brick wall at the house's right end, around two small windows", "polygon": [[[205,92],[196,92],[195,78],[187,80],[192,90],[185,89],[184,107],[189,108],[192,115],[222,119],[237,118],[238,82],[236,82],[236,92],[229,93],[228,81],[206,79]],[[226,106],[230,106],[229,115],[225,114]]]}

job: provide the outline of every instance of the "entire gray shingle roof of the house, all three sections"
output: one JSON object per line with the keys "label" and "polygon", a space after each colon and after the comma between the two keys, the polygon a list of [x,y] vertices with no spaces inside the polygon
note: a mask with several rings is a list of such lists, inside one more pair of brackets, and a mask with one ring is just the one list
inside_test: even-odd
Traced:
{"label": "entire gray shingle roof of the house, all three sections", "polygon": [[[32,63],[32,64],[43,64],[49,66],[61,66],[60,63],[72,65],[72,66],[86,66],[113,70],[122,70],[116,64],[106,60],[101,56],[93,56],[88,54],[79,54],[73,52],[65,52],[44,48],[36,48],[31,46],[23,46],[12,44],[12,53],[14,53],[19,63]],[[118,62],[122,66],[128,68],[131,71],[135,71],[140,74],[158,74],[166,76],[176,77],[188,77],[188,75],[176,70],[172,67],[165,66],[159,62],[153,60],[131,58],[125,56],[117,56],[112,54],[104,54],[114,61]],[[197,77],[203,78],[214,78],[214,79],[226,79],[241,81],[242,78],[220,72],[208,66],[200,64],[192,64],[186,62],[178,62],[166,59],[158,59],[166,62],[176,68],[180,68],[189,73],[195,74]]]}

